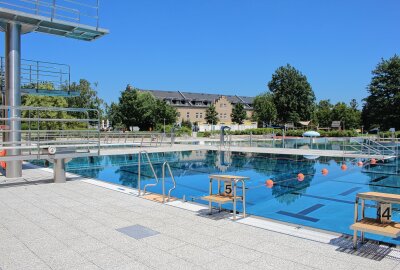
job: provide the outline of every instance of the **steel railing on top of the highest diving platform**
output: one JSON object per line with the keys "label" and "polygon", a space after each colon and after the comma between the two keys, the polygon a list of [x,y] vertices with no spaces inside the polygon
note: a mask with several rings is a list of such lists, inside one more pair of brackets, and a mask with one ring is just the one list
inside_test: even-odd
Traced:
{"label": "steel railing on top of the highest diving platform", "polygon": [[0,7],[99,28],[99,0],[1,0]]}

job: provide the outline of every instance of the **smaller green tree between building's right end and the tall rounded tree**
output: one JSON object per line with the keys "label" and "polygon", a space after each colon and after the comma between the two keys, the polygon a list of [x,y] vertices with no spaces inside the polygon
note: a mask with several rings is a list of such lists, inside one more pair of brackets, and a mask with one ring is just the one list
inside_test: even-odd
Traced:
{"label": "smaller green tree between building's right end and the tall rounded tree", "polygon": [[271,93],[261,94],[253,101],[253,119],[258,123],[271,124],[276,120],[277,111]]}

